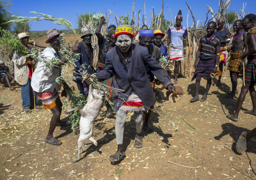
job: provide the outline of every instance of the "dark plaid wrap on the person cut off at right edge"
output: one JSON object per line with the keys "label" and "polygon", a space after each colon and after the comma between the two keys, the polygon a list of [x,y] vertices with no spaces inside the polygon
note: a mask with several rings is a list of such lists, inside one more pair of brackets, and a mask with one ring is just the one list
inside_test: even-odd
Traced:
{"label": "dark plaid wrap on the person cut off at right edge", "polygon": [[244,82],[248,84],[256,83],[256,59],[248,59],[247,68],[244,71]]}

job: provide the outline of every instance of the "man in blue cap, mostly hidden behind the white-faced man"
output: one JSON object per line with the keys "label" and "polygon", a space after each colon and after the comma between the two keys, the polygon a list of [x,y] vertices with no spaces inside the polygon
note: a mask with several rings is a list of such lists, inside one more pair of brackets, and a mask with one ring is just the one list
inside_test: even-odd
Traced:
{"label": "man in blue cap, mostly hidden behind the white-faced man", "polygon": [[[153,45],[154,31],[153,30],[141,30],[139,40],[140,40],[139,43],[135,43],[135,44],[138,44],[140,46],[147,48],[149,55],[152,56],[159,63],[161,50],[158,47]],[[146,66],[146,70],[147,70],[147,75],[148,75],[149,81],[151,82],[153,91],[155,92],[155,83],[153,83],[153,81],[155,80],[154,75],[149,70],[149,68],[147,66]],[[158,93],[158,96],[159,95],[160,94]],[[148,125],[148,121],[149,121],[149,118],[150,118],[153,108],[154,108],[154,105],[151,106],[150,109],[148,110],[148,112],[146,113],[145,123],[143,126],[143,129],[145,129],[146,132],[149,134],[154,132],[154,130],[152,128],[150,128],[150,126]]]}

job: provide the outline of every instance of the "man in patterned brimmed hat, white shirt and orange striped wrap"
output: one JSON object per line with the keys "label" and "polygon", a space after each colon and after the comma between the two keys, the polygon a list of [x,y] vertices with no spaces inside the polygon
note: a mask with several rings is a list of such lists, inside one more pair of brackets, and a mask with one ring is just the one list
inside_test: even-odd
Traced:
{"label": "man in patterned brimmed hat, white shirt and orange striped wrap", "polygon": [[[48,40],[45,43],[50,43],[50,46],[45,48],[42,54],[39,56],[39,62],[33,73],[31,86],[36,95],[42,100],[43,108],[50,109],[52,113],[49,131],[46,136],[45,142],[52,145],[60,145],[62,142],[53,137],[53,131],[56,125],[60,122],[60,114],[62,103],[58,96],[58,84],[56,78],[60,76],[62,65],[67,61],[65,57],[62,57],[60,51],[59,35],[55,29],[51,29],[47,32]],[[78,45],[75,44],[72,48],[72,53],[76,53]],[[58,64],[54,67],[46,67],[45,63],[49,60],[59,60]],[[56,67],[57,66],[57,67]],[[60,125],[60,124],[59,124]],[[64,124],[66,125],[66,124]]]}

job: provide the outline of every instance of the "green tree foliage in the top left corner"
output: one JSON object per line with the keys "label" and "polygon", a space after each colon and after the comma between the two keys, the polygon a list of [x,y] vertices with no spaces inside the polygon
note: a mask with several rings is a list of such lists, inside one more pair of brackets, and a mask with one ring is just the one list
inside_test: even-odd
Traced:
{"label": "green tree foliage in the top left corner", "polygon": [[0,1],[0,28],[3,28],[4,30],[11,30],[10,24],[3,24],[11,20],[11,14],[8,12],[11,7],[11,0]]}

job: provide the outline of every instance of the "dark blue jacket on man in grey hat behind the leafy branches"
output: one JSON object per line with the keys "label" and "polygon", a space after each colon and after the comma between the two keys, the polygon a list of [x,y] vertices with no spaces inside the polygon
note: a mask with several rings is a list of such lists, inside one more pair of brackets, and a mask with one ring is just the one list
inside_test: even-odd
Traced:
{"label": "dark blue jacket on man in grey hat behind the leafy branches", "polygon": [[[93,48],[92,45],[90,44],[89,46],[91,47],[91,59],[89,58],[89,52],[88,49],[85,45],[84,41],[81,41],[80,43],[78,43],[79,49],[77,54],[80,54],[80,58],[76,59],[75,64],[76,64],[76,68],[74,69],[77,73],[83,72],[83,71],[87,71],[88,74],[93,74],[95,73],[95,69],[92,66],[93,63]],[[82,67],[82,65],[85,67]],[[80,72],[79,72],[79,71]],[[81,73],[80,73],[81,74]],[[83,89],[83,86],[88,86],[85,82],[82,83],[82,78],[81,75],[78,75],[76,73],[73,73],[73,76],[76,77],[75,82],[78,83],[78,88],[81,91]],[[80,86],[80,87],[79,87]],[[88,86],[89,87],[89,86]],[[81,89],[80,89],[81,88]]]}

